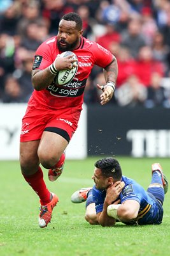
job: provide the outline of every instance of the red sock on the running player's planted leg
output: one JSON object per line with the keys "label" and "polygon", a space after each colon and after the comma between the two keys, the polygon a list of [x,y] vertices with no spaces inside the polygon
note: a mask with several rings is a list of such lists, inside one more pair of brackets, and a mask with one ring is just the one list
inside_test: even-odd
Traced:
{"label": "red sock on the running player's planted leg", "polygon": [[34,191],[37,193],[37,195],[40,198],[40,204],[46,205],[51,201],[51,193],[46,188],[45,181],[43,179],[43,172],[41,170],[41,167],[39,166],[38,172],[30,175],[30,176],[24,176],[24,179],[28,182],[28,184],[34,189]]}

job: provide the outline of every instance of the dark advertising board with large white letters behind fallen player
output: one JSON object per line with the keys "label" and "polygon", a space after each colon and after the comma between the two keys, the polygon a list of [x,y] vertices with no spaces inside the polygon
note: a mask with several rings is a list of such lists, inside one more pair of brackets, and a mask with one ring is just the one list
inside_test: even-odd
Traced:
{"label": "dark advertising board with large white letters behind fallen player", "polygon": [[170,156],[170,109],[88,106],[88,156]]}

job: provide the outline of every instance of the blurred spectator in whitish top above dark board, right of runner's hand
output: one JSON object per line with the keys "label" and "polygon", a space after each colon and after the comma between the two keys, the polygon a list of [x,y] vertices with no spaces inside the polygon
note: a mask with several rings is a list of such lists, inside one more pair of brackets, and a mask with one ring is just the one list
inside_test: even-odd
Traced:
{"label": "blurred spectator in whitish top above dark board, right of runner's hand", "polygon": [[139,82],[138,77],[131,75],[120,88],[117,88],[115,97],[118,106],[121,107],[143,106],[146,100],[146,93],[146,87]]}

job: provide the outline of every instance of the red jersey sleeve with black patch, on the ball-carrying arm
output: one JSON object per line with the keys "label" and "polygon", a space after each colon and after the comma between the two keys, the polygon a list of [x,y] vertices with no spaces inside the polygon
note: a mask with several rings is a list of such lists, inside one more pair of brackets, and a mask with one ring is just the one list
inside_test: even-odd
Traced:
{"label": "red jersey sleeve with black patch, on the ball-carrying arm", "polygon": [[53,44],[56,45],[56,39],[52,38],[51,40],[43,42],[39,45],[34,56],[34,62],[32,65],[32,70],[41,69],[44,70],[46,67],[49,67],[55,60],[55,54],[53,54]]}

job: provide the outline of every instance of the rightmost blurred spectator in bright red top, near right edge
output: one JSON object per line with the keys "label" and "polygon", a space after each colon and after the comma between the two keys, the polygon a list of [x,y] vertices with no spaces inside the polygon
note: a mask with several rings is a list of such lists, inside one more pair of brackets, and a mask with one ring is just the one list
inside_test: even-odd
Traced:
{"label": "rightmost blurred spectator in bright red top, near right edge", "polygon": [[152,48],[144,46],[139,50],[138,61],[136,65],[136,74],[145,86],[150,86],[153,72],[158,72],[164,76],[164,65],[161,61],[154,60]]}

